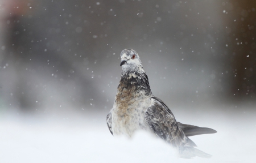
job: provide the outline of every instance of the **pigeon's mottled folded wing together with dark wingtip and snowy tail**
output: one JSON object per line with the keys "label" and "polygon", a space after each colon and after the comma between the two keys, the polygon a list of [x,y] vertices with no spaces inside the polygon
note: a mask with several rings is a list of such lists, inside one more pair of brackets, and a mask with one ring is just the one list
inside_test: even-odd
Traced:
{"label": "pigeon's mottled folded wing together with dark wingtip and snowy tail", "polygon": [[[179,155],[182,158],[192,158],[195,156],[210,158],[211,155],[200,151],[196,144],[187,136],[198,134],[210,134],[217,132],[211,128],[202,128],[198,126],[185,125],[176,122],[171,110],[162,100],[152,97],[152,104],[145,111],[145,120],[151,130],[160,138],[179,148]],[[188,135],[187,135],[188,134]]]}

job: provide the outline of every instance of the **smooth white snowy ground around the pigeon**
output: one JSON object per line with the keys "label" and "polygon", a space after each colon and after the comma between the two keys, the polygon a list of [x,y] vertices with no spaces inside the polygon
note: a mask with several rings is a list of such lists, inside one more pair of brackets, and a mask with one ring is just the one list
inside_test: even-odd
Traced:
{"label": "smooth white snowy ground around the pigeon", "polygon": [[177,158],[168,144],[144,132],[131,140],[114,138],[105,123],[106,111],[101,111],[68,116],[2,114],[0,162],[256,162],[255,109],[208,110],[195,115],[192,110],[175,112],[177,121],[218,131],[190,137],[198,149],[213,155],[210,159]]}

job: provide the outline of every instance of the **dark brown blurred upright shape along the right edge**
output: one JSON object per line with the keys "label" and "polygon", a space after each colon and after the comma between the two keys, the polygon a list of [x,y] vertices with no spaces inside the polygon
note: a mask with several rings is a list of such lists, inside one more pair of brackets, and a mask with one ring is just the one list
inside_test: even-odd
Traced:
{"label": "dark brown blurred upright shape along the right edge", "polygon": [[228,48],[226,67],[232,67],[232,89],[236,100],[255,100],[256,85],[256,1],[224,2],[223,17]]}

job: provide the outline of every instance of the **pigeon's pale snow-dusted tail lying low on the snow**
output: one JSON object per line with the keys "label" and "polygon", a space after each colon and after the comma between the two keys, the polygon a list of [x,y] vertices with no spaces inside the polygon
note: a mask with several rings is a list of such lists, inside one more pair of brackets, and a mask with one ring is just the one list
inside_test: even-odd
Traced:
{"label": "pigeon's pale snow-dusted tail lying low on the snow", "polygon": [[202,158],[210,158],[212,155],[200,151],[194,147],[179,147],[179,155],[181,158],[193,158],[195,156],[202,157]]}

